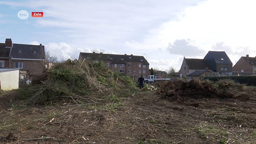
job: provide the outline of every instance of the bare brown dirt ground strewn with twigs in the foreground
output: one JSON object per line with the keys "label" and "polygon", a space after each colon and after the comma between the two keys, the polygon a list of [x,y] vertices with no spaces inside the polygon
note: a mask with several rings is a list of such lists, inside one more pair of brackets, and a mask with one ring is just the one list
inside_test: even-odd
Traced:
{"label": "bare brown dirt ground strewn with twigs in the foreground", "polygon": [[16,105],[15,95],[9,94],[0,98],[0,143],[253,144],[256,92],[247,88],[248,93],[253,95],[248,100],[177,102],[140,92],[117,102],[49,107]]}

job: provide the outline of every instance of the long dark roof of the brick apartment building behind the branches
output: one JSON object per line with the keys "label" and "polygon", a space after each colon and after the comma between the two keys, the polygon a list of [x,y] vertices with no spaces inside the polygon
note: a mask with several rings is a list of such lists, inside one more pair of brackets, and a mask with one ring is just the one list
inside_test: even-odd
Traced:
{"label": "long dark roof of the brick apartment building behind the branches", "polygon": [[111,63],[124,64],[126,62],[141,62],[144,65],[147,65],[147,64],[149,65],[149,63],[143,56],[136,56],[136,55],[80,52],[80,56],[83,58],[89,58],[91,60],[110,61]]}

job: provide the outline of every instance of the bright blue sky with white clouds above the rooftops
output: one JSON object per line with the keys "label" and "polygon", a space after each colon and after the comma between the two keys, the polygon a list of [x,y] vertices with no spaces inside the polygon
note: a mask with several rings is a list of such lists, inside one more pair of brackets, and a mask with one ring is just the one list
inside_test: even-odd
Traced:
{"label": "bright blue sky with white clouds above the rooftops", "polygon": [[[251,0],[0,0],[0,43],[43,44],[60,58],[93,49],[144,56],[180,70],[186,58],[225,51],[233,65],[256,56]],[[28,12],[27,20],[18,12]],[[43,17],[32,17],[43,12]],[[253,14],[254,13],[254,14]]]}

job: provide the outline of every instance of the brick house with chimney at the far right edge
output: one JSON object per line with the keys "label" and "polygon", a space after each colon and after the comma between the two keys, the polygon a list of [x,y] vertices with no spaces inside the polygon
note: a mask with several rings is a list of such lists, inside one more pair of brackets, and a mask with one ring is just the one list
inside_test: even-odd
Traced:
{"label": "brick house with chimney at the far right edge", "polygon": [[241,76],[256,76],[256,56],[249,57],[247,54],[245,57],[241,57],[234,65],[233,73]]}

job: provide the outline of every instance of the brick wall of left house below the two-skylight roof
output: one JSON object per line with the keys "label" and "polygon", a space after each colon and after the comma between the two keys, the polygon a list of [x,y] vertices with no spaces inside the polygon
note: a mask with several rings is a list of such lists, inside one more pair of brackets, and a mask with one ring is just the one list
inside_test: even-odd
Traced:
{"label": "brick wall of left house below the two-skylight roof", "polygon": [[11,60],[9,59],[9,68],[15,68],[15,62],[22,62],[21,71],[29,71],[29,75],[41,75],[45,69],[45,63],[42,60]]}

